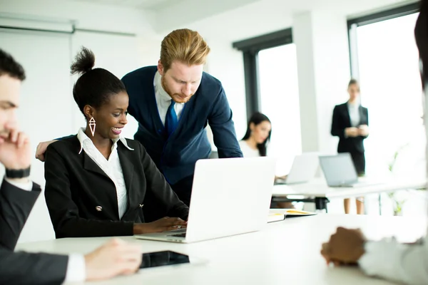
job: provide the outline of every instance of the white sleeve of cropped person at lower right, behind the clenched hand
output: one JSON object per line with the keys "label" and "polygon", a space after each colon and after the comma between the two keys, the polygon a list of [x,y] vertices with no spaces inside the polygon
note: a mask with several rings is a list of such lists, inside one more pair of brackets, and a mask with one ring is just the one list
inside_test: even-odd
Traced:
{"label": "white sleeve of cropped person at lower right, behind the clenched hand", "polygon": [[405,284],[428,284],[427,238],[419,244],[400,244],[394,239],[367,242],[358,264],[365,274]]}

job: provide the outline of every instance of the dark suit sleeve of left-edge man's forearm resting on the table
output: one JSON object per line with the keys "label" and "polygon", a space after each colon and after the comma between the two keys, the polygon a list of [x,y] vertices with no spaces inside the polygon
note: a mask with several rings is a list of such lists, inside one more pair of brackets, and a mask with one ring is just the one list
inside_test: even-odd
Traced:
{"label": "dark suit sleeve of left-edge man's forearm resting on the table", "polygon": [[11,252],[0,248],[0,284],[62,284],[67,264],[66,255]]}

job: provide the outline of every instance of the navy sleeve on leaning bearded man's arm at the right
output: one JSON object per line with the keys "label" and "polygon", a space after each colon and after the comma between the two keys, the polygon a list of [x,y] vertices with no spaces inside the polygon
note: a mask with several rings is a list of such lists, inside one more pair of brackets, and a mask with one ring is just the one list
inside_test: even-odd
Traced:
{"label": "navy sleeve on leaning bearded man's arm at the right", "polygon": [[214,144],[218,149],[218,157],[243,157],[235,134],[232,120],[232,110],[226,98],[223,87],[215,100],[213,109],[208,117],[208,123],[213,131]]}

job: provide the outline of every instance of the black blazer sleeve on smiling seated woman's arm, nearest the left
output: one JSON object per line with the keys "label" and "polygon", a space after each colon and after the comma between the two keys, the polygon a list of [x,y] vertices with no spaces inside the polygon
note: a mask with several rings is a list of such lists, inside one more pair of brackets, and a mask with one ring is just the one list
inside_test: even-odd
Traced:
{"label": "black blazer sleeve on smiling seated woman's arm, nearest the left", "polygon": [[45,197],[57,238],[133,235],[133,222],[83,219],[71,197],[68,170],[62,157],[49,145],[45,162]]}

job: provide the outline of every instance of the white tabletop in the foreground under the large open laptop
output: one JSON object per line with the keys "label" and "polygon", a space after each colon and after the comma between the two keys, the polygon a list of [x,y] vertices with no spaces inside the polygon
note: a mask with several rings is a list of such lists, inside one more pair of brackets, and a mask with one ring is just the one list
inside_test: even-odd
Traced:
{"label": "white tabletop in the foreground under the large open laptop", "polygon": [[[169,249],[189,254],[190,257],[208,259],[208,263],[165,266],[154,271],[143,269],[133,276],[121,276],[94,284],[390,284],[370,279],[357,268],[326,266],[320,255],[320,247],[338,226],[361,227],[370,239],[396,235],[402,242],[412,242],[425,233],[427,222],[423,218],[319,214],[267,224],[260,232],[195,244],[150,242],[123,237],[141,244],[144,252]],[[18,244],[17,249],[29,252],[86,253],[107,239],[56,239]]]}

